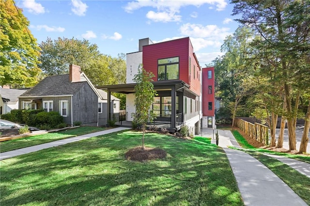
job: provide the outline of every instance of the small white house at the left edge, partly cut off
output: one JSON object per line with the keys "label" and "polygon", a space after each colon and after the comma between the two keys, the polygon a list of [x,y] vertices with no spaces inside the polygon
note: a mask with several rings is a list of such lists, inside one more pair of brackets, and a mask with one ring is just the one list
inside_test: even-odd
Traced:
{"label": "small white house at the left edge, partly cut off", "polygon": [[7,85],[0,87],[0,98],[3,103],[0,105],[0,115],[9,113],[12,109],[18,109],[18,96],[26,91],[27,89],[15,89]]}

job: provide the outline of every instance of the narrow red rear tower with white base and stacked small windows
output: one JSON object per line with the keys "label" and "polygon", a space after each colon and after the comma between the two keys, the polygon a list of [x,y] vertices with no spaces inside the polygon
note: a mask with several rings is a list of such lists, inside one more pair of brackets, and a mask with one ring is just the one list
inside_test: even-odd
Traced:
{"label": "narrow red rear tower with white base and stacked small windows", "polygon": [[214,67],[202,68],[202,127],[215,128]]}

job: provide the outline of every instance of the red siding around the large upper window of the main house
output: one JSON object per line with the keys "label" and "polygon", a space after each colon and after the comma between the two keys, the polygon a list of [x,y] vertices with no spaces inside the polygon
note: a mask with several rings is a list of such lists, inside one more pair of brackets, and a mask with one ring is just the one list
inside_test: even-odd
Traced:
{"label": "red siding around the large upper window of the main house", "polygon": [[199,66],[194,58],[193,46],[189,37],[143,46],[143,67],[146,71],[152,72],[155,75],[154,81],[157,81],[157,60],[171,57],[179,57],[179,79],[190,85],[190,89],[197,95],[200,95],[200,82],[198,78],[191,79],[191,82],[189,82],[189,57],[192,67],[196,65],[196,73],[199,71],[197,70]]}

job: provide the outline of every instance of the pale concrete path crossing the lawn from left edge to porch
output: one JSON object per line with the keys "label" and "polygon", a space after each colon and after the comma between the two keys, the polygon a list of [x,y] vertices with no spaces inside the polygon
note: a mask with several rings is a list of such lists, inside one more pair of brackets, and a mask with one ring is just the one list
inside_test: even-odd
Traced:
{"label": "pale concrete path crossing the lawn from left edge to porch", "polygon": [[20,149],[8,151],[8,152],[1,152],[0,153],[0,160],[8,159],[8,158],[15,157],[15,156],[22,155],[22,154],[35,152],[35,151],[45,149],[45,148],[49,148],[49,147],[57,147],[60,145],[71,143],[71,142],[77,142],[77,141],[80,141],[83,139],[88,139],[91,137],[109,134],[112,132],[118,132],[118,131],[122,131],[122,130],[128,130],[128,129],[129,128],[126,128],[126,127],[117,127],[117,128],[113,128],[113,129],[109,129],[109,130],[100,131],[100,132],[93,132],[93,133],[84,134],[81,136],[57,140],[54,142],[48,142],[48,143],[41,144],[41,145],[35,145],[35,146],[31,146],[31,147],[20,148]]}

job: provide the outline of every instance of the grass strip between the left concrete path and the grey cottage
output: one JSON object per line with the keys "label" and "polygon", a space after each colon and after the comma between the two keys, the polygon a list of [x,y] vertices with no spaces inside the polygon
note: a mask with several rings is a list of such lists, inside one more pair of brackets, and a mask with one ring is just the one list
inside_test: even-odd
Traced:
{"label": "grass strip between the left concrete path and the grey cottage", "polygon": [[0,152],[7,152],[24,147],[31,147],[34,145],[40,145],[47,142],[53,142],[69,137],[79,136],[92,132],[98,132],[105,130],[102,127],[78,127],[62,132],[51,132],[47,134],[39,134],[31,137],[25,137],[20,139],[13,139],[4,142],[0,142]]}

